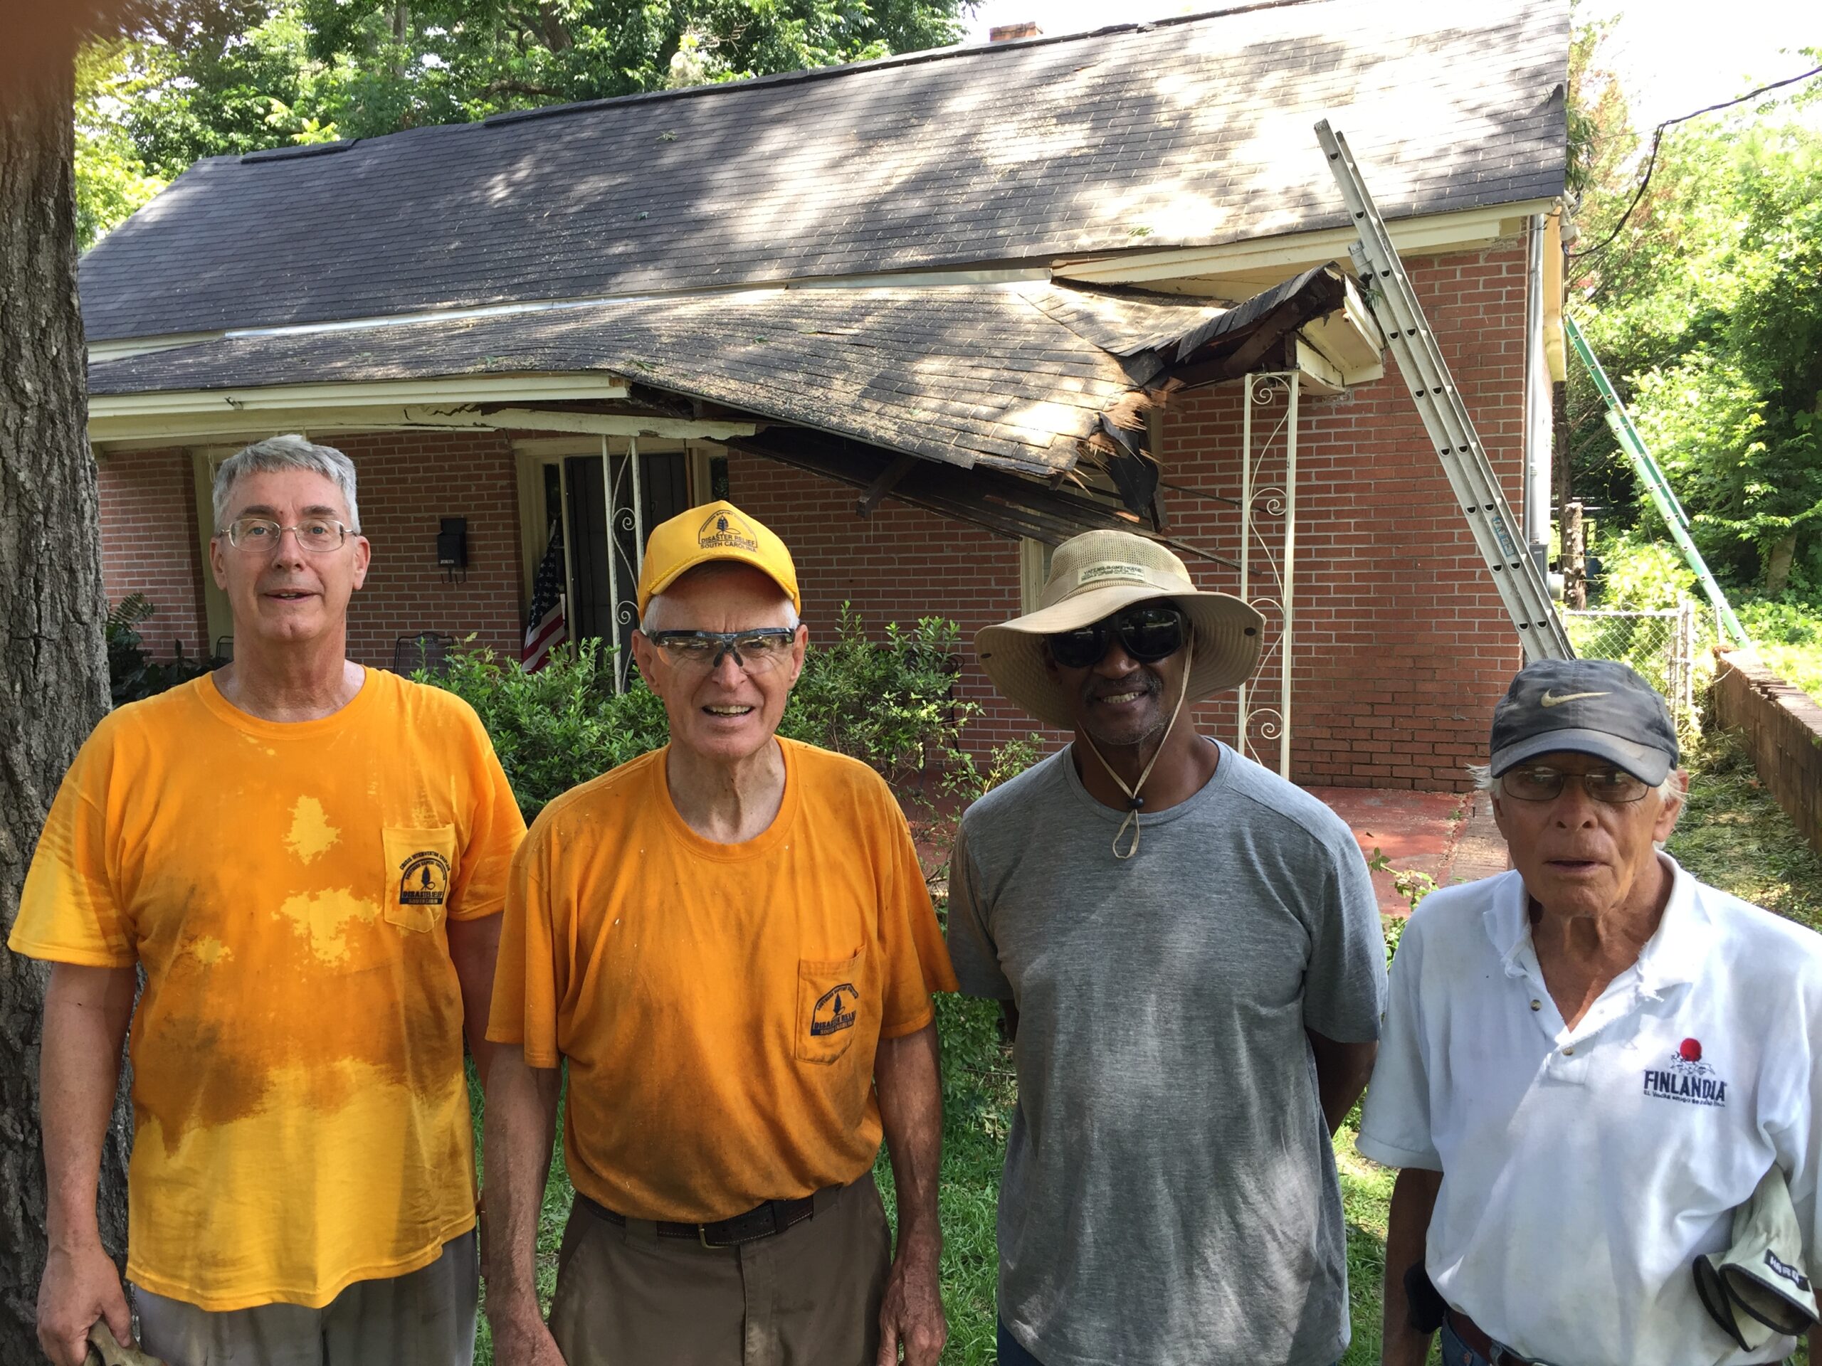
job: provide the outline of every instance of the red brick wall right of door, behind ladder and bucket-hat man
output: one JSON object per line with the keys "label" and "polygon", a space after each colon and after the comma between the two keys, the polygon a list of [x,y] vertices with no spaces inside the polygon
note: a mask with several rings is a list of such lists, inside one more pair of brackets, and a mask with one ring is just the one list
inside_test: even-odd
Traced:
{"label": "red brick wall right of door, behind ladder and bucket-hat man", "polygon": [[[1523,246],[1419,259],[1408,268],[1516,506]],[[1239,450],[1237,384],[1197,390],[1166,410],[1164,477],[1172,483],[1237,497]],[[891,499],[860,521],[847,486],[758,459],[734,457],[729,483],[732,499],[798,557],[813,632],[833,627],[844,597],[875,628],[940,614],[957,619],[969,639],[1018,614],[1011,541]],[[1237,557],[1232,508],[1166,492],[1164,512],[1173,535]],[[1275,539],[1274,530],[1274,552]],[[1192,572],[1204,588],[1239,590],[1235,570],[1193,561]],[[1252,592],[1264,592],[1257,577]],[[1483,758],[1492,703],[1523,659],[1396,372],[1336,401],[1303,401],[1294,612],[1292,776],[1337,787],[1465,787],[1461,769]],[[1275,627],[1274,619],[1274,636]],[[1275,658],[1266,668],[1272,685],[1255,705],[1275,703]],[[982,743],[1037,729],[993,694],[971,659],[960,692],[986,707],[977,723]],[[1232,743],[1233,694],[1199,707],[1197,721]],[[1255,747],[1275,767],[1277,743],[1255,739]]]}

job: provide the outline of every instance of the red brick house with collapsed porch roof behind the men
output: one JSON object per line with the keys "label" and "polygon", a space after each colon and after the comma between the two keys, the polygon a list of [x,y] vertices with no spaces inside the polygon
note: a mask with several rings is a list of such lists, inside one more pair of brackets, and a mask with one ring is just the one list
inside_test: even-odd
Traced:
{"label": "red brick house with collapsed porch roof behind the men", "polygon": [[[813,636],[842,601],[971,634],[1031,601],[1046,545],[1119,525],[1204,586],[1246,563],[1259,758],[1458,787],[1520,648],[1312,126],[1346,133],[1541,546],[1569,7],[1408,9],[1246,5],[199,162],[82,262],[109,596],[144,592],[164,648],[231,648],[210,472],[292,430],[361,472],[350,652],[381,667],[421,630],[516,656],[554,525],[570,625],[623,634],[643,530],[723,490],[793,546]],[[1033,729],[973,659],[958,687],[982,743]],[[1239,710],[1203,719],[1233,741]]]}

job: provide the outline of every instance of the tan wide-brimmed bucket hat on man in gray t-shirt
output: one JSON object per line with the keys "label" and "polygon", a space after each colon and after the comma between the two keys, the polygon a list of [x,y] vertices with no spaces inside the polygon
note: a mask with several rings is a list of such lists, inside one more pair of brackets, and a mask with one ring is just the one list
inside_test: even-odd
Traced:
{"label": "tan wide-brimmed bucket hat on man in gray t-shirt", "polygon": [[1070,699],[1044,668],[1044,637],[1091,627],[1122,607],[1168,597],[1190,619],[1195,652],[1188,701],[1244,683],[1259,665],[1264,619],[1230,594],[1203,592],[1157,541],[1131,532],[1082,532],[1051,556],[1042,607],[975,632],[975,654],[1000,696],[1062,730],[1075,729]]}

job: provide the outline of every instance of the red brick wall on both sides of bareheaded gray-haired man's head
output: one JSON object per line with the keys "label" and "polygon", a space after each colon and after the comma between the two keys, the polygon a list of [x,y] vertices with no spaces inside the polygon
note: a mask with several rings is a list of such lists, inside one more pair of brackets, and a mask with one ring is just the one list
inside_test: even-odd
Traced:
{"label": "red brick wall on both sides of bareheaded gray-haired man's head", "polygon": [[[390,667],[399,636],[441,630],[517,658],[519,510],[512,446],[499,433],[375,432],[324,437],[355,464],[361,525],[374,543],[366,586],[348,607],[348,656]],[[159,608],[146,639],[160,658],[171,636],[197,652],[206,634],[189,452],[100,461],[102,576],[109,601],[144,592]],[[446,583],[435,563],[441,517],[468,519],[468,577]],[[146,526],[182,535],[146,537]],[[148,543],[153,541],[155,545]]]}

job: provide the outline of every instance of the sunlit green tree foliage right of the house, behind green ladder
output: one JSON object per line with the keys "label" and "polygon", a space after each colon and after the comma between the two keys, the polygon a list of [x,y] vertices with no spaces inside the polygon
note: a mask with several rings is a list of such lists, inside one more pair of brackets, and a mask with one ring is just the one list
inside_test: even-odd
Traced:
{"label": "sunlit green tree foliage right of the house, behind green ladder", "polygon": [[[1572,66],[1585,255],[1571,310],[1715,570],[1822,588],[1822,82],[1667,129],[1638,195],[1638,135],[1602,80],[1600,36],[1583,31]],[[1609,523],[1662,534],[1576,368],[1571,421],[1578,494],[1618,505]]]}

